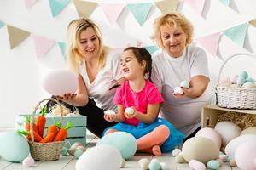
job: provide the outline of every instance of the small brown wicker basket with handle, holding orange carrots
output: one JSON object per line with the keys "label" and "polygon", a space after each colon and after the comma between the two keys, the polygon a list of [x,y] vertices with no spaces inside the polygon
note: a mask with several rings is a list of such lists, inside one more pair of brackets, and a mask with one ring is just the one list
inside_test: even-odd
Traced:
{"label": "small brown wicker basket with handle, holding orange carrots", "polygon": [[[32,127],[34,115],[35,115],[36,111],[38,110],[39,105],[46,100],[52,100],[52,101],[55,101],[58,105],[61,105],[58,100],[51,99],[51,98],[43,99],[42,101],[40,101],[38,103],[38,105],[35,107],[35,110],[32,112],[30,127]],[[60,122],[62,125],[62,111],[61,111],[61,116],[60,116]],[[38,143],[38,142],[34,142],[32,128],[30,128],[30,133],[31,133],[31,137],[32,137],[32,140],[29,141],[30,153],[31,153],[32,158],[34,158],[34,160],[55,161],[60,158],[64,141],[50,142],[50,143]]]}

